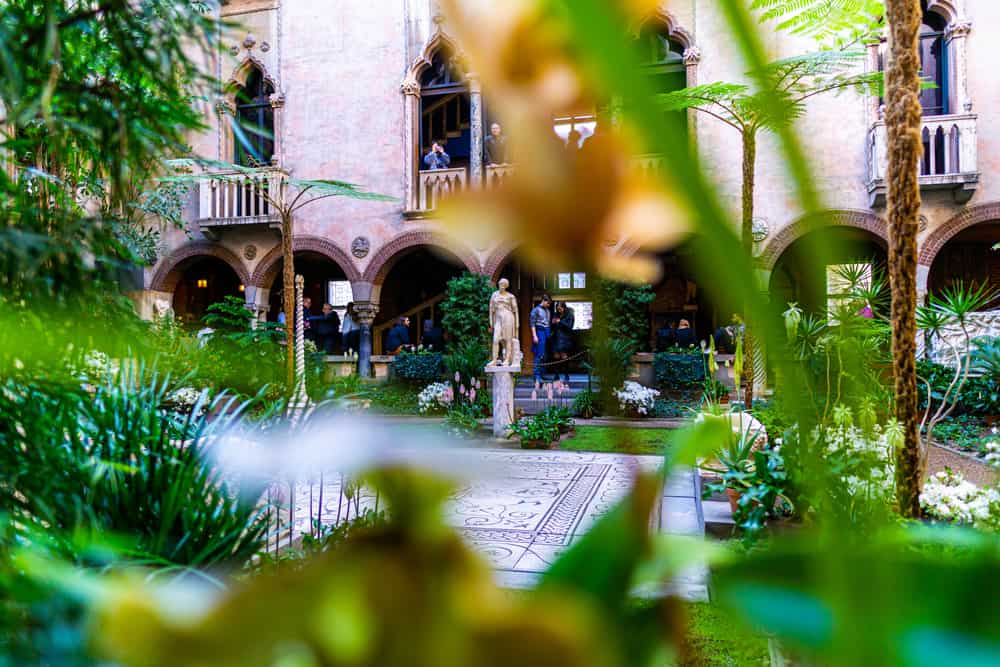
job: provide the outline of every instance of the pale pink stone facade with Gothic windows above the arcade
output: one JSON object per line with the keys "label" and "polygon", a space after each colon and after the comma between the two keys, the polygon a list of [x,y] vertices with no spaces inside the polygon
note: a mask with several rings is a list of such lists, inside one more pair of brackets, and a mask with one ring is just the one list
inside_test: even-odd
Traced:
{"label": "pale pink stone facade with Gothic windows above the arcade", "polygon": [[[728,28],[718,5],[715,0],[671,0],[659,14],[672,39],[684,49],[689,85],[746,80],[734,41],[721,37]],[[954,234],[1000,219],[1000,106],[991,99],[996,94],[994,63],[1000,58],[1000,43],[988,32],[1000,25],[1000,3],[931,0],[929,5],[948,26],[951,107],[965,119],[962,122],[971,123],[972,147],[978,157],[975,165],[963,165],[975,169],[975,179],[961,197],[949,189],[924,193],[927,224],[919,241],[925,292],[935,254]],[[497,277],[516,248],[515,240],[497,239],[485,248],[464,247],[439,233],[433,215],[413,214],[419,174],[414,145],[419,76],[429,66],[435,48],[461,51],[461,45],[449,36],[437,3],[230,0],[221,11],[239,27],[227,29],[223,48],[206,63],[226,86],[218,101],[206,108],[209,129],[192,138],[194,149],[205,157],[232,159],[233,138],[226,117],[235,108],[234,91],[256,67],[274,90],[270,98],[275,127],[272,165],[295,178],[347,180],[398,200],[330,198],[306,207],[296,216],[297,250],[336,263],[351,281],[355,300],[371,304],[376,312],[389,269],[412,248],[444,247],[469,270]],[[809,40],[775,32],[773,25],[764,30],[765,45],[774,57],[811,48]],[[877,62],[876,49],[872,47],[869,67]],[[469,91],[475,146],[482,140],[484,118],[474,78],[470,78]],[[482,94],[488,97],[488,91]],[[831,211],[822,217],[823,223],[855,227],[884,238],[884,210],[872,196],[877,186],[872,181],[877,156],[870,139],[879,121],[878,100],[844,92],[810,100],[798,129],[813,159],[819,193]],[[738,213],[738,137],[731,128],[704,116],[692,115],[691,127],[712,180],[727,206]],[[762,135],[758,153],[756,214],[762,222],[758,252],[766,276],[781,253],[812,227],[797,207],[775,138]],[[478,155],[474,148],[469,164],[472,177],[484,169]],[[261,224],[266,220],[259,219],[257,224],[213,227],[206,224],[200,208],[204,201],[199,193],[192,194],[186,209],[190,230],[168,233],[168,252],[146,270],[146,292],[137,295],[138,300],[149,310],[151,299],[162,301],[174,289],[185,262],[210,256],[229,264],[245,286],[248,303],[266,311],[280,260],[273,225]],[[630,248],[628,239],[619,239],[618,245],[619,250]]]}

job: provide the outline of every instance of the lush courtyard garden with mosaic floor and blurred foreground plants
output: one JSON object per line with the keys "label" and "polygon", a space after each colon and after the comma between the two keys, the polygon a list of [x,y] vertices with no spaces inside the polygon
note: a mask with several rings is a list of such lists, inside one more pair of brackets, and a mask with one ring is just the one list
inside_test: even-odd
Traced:
{"label": "lush courtyard garden with mosaic floor and blurred foreground plants", "polygon": [[[920,3],[721,0],[747,83],[683,95],[639,74],[645,3],[531,0],[495,22],[441,4],[538,151],[442,224],[586,262],[572,374],[492,358],[502,286],[467,271],[435,302],[436,347],[379,361],[370,317],[357,356],[306,340],[296,207],[389,199],[333,178],[267,192],[284,324],[233,296],[194,326],[139,317],[122,276],[191,232],[180,200],[213,162],[188,139],[223,83],[193,54],[223,26],[174,0],[0,7],[0,667],[1000,664],[1000,339],[971,333],[998,295],[916,302],[894,184],[888,263],[817,247],[839,267],[826,307],[764,298],[753,160],[736,220],[665,115],[708,101],[744,147],[772,134],[789,196],[818,211],[792,121],[820,92],[918,92],[915,72],[857,75],[843,44],[891,30],[912,65]],[[776,30],[817,53],[768,63]],[[551,147],[561,110],[605,100],[627,101],[615,129]],[[916,145],[896,149],[890,178],[916,173],[895,161]],[[619,168],[647,153],[693,166]],[[692,232],[705,289],[743,315],[656,349],[648,250]],[[634,253],[608,252],[619,235]]]}

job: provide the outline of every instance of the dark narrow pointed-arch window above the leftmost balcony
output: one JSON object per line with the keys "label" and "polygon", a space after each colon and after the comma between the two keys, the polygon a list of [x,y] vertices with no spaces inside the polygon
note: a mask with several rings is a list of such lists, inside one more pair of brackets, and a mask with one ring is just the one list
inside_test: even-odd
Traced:
{"label": "dark narrow pointed-arch window above the leftmost balcony", "polygon": [[263,167],[274,155],[274,88],[254,67],[244,86],[236,92],[236,123],[233,128],[233,161],[244,167]]}

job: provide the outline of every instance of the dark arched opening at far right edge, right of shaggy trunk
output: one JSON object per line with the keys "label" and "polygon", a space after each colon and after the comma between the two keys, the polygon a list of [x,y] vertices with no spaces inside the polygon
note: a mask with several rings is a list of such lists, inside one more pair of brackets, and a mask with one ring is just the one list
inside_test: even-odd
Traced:
{"label": "dark arched opening at far right edge, right of shaggy trunk", "polygon": [[[963,229],[948,239],[931,265],[928,288],[932,294],[959,282],[966,286],[987,285],[993,293],[1000,293],[1000,250],[993,250],[1000,239],[1000,221],[981,222]],[[1000,308],[1000,298],[990,302],[984,310]]]}

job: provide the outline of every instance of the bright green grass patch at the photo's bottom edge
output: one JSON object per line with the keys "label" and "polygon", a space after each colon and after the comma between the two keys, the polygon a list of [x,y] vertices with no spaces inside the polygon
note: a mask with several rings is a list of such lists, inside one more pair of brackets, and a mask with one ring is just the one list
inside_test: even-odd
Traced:
{"label": "bright green grass patch at the photo's bottom edge", "polygon": [[692,602],[685,605],[685,610],[693,659],[682,662],[680,667],[769,664],[767,638],[747,630],[720,607]]}

